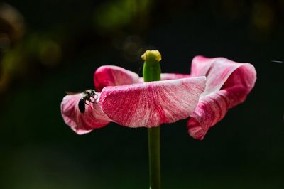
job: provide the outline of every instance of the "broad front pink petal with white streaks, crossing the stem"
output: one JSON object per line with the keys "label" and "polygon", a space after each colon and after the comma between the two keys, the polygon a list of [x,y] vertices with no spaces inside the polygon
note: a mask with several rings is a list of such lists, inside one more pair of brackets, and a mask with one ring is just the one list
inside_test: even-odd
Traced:
{"label": "broad front pink petal with white streaks, crossing the stem", "polygon": [[118,124],[159,126],[189,117],[204,87],[205,77],[104,87],[99,104]]}

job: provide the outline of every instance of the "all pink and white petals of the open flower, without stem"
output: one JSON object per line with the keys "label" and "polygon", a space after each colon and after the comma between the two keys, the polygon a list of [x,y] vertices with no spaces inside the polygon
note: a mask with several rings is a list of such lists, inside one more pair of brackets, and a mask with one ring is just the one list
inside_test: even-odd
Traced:
{"label": "all pink and white petals of the open flower, without stem", "polygon": [[190,136],[203,139],[231,107],[244,102],[256,81],[249,63],[226,58],[192,60],[190,75],[161,75],[162,81],[142,82],[134,72],[102,66],[94,72],[98,97],[80,112],[82,93],[67,95],[61,103],[62,117],[77,134],[85,134],[114,121],[129,127],[153,127],[190,117]]}

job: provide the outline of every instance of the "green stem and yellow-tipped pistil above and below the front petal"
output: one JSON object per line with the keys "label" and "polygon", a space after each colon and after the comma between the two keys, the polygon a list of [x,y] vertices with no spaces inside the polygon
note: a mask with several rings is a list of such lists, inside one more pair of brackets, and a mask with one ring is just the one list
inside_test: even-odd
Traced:
{"label": "green stem and yellow-tipped pistil above and below the front petal", "polygon": [[[141,57],[144,82],[160,80],[160,53],[158,50],[147,50]],[[148,128],[148,156],[150,189],[160,189],[160,126]]]}

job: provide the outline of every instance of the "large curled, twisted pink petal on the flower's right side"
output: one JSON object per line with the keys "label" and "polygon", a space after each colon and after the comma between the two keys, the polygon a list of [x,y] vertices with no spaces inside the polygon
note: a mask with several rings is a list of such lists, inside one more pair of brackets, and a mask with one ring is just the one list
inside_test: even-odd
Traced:
{"label": "large curled, twisted pink petal on the flower's right side", "polygon": [[206,89],[187,123],[190,136],[203,139],[228,109],[244,102],[256,82],[256,70],[249,63],[197,56],[192,60],[192,75],[207,76]]}

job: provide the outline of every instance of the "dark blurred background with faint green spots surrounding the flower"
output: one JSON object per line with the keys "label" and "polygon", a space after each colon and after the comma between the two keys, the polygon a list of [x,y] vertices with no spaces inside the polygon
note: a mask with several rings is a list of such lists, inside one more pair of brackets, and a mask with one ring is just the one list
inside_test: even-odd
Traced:
{"label": "dark blurred background with faint green spots surrounding the flower", "polygon": [[284,1],[5,1],[0,4],[0,188],[148,188],[146,129],[78,136],[65,91],[94,70],[141,75],[141,54],[189,73],[195,55],[252,63],[256,87],[203,141],[162,126],[163,188],[284,188]]}

